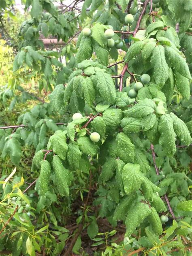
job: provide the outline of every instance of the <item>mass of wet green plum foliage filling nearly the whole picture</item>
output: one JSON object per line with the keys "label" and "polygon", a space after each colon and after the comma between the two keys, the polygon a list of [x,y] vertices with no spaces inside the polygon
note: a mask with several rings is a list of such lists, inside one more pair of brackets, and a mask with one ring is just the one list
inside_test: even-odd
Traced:
{"label": "mass of wet green plum foliage filling nearly the whole picture", "polygon": [[[100,248],[95,255],[187,255],[190,1],[85,0],[77,14],[78,2],[59,10],[49,0],[26,1],[31,19],[21,24],[11,86],[0,102],[9,110],[26,100],[39,102],[21,111],[14,127],[0,127],[0,151],[15,166],[24,148],[35,154],[31,173],[3,172],[0,248],[15,256],[87,255],[90,248],[81,248],[87,233]],[[137,13],[122,31],[130,8]],[[11,1],[3,0],[0,10],[10,15]],[[85,23],[90,30],[81,32]],[[45,49],[42,34],[64,45]],[[109,47],[111,37],[115,45]],[[119,75],[119,62],[113,63],[121,53]],[[22,81],[35,77],[39,93],[25,90],[20,75]],[[138,92],[135,82],[143,84]],[[161,215],[169,221],[162,223]],[[124,234],[119,243],[117,232]]]}

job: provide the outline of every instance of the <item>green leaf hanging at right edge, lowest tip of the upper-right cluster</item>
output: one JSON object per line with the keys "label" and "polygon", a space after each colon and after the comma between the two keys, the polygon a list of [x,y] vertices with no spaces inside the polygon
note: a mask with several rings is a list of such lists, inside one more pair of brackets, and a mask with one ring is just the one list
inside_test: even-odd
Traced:
{"label": "green leaf hanging at right edge, lowest tip of the upper-right cluster", "polygon": [[179,72],[175,72],[176,86],[180,94],[186,98],[190,99],[190,80],[183,77]]}

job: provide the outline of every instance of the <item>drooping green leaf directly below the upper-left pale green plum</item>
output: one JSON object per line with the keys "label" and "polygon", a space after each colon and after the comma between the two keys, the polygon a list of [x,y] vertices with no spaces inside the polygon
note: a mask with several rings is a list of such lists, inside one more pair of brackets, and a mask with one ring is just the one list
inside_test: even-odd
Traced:
{"label": "drooping green leaf directly below the upper-left pale green plum", "polygon": [[92,56],[92,41],[88,36],[83,36],[81,38],[81,43],[79,45],[78,52],[76,54],[77,63],[82,62],[83,60],[90,59]]}

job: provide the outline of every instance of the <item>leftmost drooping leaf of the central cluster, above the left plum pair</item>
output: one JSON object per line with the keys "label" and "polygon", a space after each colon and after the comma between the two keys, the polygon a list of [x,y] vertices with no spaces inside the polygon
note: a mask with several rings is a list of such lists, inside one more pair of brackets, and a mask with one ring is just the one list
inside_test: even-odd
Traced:
{"label": "leftmost drooping leaf of the central cluster, above the left plum pair", "polygon": [[49,94],[51,109],[53,109],[53,111],[55,112],[59,112],[60,109],[64,106],[64,102],[63,102],[64,90],[65,90],[64,85],[59,84],[55,87],[53,92]]}

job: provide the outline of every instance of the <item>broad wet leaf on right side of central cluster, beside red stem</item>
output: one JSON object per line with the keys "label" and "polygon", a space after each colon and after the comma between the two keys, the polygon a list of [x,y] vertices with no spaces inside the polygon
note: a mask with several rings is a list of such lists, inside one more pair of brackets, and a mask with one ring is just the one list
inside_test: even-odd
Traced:
{"label": "broad wet leaf on right side of central cluster, beside red stem", "polygon": [[102,71],[97,71],[94,80],[96,81],[96,87],[100,96],[106,100],[107,103],[113,104],[116,98],[116,93],[111,75]]}

